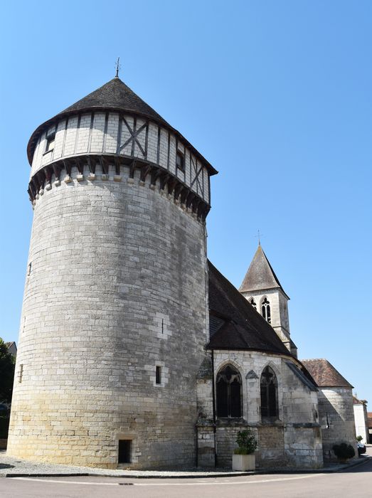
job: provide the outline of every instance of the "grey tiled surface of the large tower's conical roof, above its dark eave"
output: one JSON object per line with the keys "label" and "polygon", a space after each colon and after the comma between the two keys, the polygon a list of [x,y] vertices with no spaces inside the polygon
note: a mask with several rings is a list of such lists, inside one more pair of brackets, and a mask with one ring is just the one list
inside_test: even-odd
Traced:
{"label": "grey tiled surface of the large tower's conical roof, above its dark eave", "polygon": [[149,117],[154,121],[162,122],[167,127],[169,123],[164,120],[152,107],[150,107],[141,97],[136,95],[129,86],[116,77],[110,80],[94,92],[70,105],[60,114],[65,112],[75,112],[81,110],[119,110],[134,112],[135,114]]}

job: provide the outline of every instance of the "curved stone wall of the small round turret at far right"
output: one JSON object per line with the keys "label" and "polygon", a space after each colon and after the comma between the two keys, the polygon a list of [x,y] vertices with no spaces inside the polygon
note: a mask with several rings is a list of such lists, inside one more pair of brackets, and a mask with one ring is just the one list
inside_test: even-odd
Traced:
{"label": "curved stone wall of the small round turret at far right", "polygon": [[324,460],[335,461],[332,447],[343,442],[352,445],[358,457],[351,388],[319,388],[318,397]]}

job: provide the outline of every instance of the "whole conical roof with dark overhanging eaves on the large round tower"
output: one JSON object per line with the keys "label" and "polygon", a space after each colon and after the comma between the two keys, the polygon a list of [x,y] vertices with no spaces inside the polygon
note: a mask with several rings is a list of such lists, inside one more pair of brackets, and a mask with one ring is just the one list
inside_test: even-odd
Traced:
{"label": "whole conical roof with dark overhanging eaves on the large round tower", "polygon": [[162,124],[164,127],[169,129],[171,132],[176,134],[184,144],[186,144],[193,154],[201,159],[203,163],[209,170],[209,174],[217,174],[218,171],[213,168],[213,166],[206,160],[205,157],[201,155],[198,150],[193,147],[193,145],[188,142],[188,140],[181,135],[179,131],[171,127],[171,125],[164,120],[161,115],[159,115],[152,107],[150,107],[141,97],[133,92],[120,78],[116,77],[110,80],[102,87],[97,88],[94,92],[91,92],[86,97],[78,100],[75,104],[70,105],[67,109],[55,115],[51,120],[46,121],[41,124],[31,135],[31,139],[28,141],[27,156],[28,161],[32,164],[33,152],[36,147],[36,142],[38,137],[43,133],[48,127],[50,127],[58,120],[68,117],[70,115],[76,115],[79,112],[92,112],[92,111],[119,111],[119,112],[129,112],[129,114],[141,115],[148,118],[154,122]]}

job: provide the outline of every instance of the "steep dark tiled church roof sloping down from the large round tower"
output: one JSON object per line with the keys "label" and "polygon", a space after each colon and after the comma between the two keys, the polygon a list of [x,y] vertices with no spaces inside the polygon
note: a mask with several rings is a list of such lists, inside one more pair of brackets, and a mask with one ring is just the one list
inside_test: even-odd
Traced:
{"label": "steep dark tiled church roof sloping down from the large round tower", "polygon": [[208,262],[211,340],[208,349],[268,351],[291,356],[271,325]]}

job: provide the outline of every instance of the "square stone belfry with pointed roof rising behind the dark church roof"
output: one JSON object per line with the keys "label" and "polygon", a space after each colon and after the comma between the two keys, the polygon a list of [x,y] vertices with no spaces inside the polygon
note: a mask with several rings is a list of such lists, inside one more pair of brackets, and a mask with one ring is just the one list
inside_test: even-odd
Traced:
{"label": "square stone belfry with pointed roof rising behind the dark church roof", "polygon": [[287,349],[297,355],[289,334],[289,297],[280,285],[261,244],[258,245],[239,291],[269,322]]}

